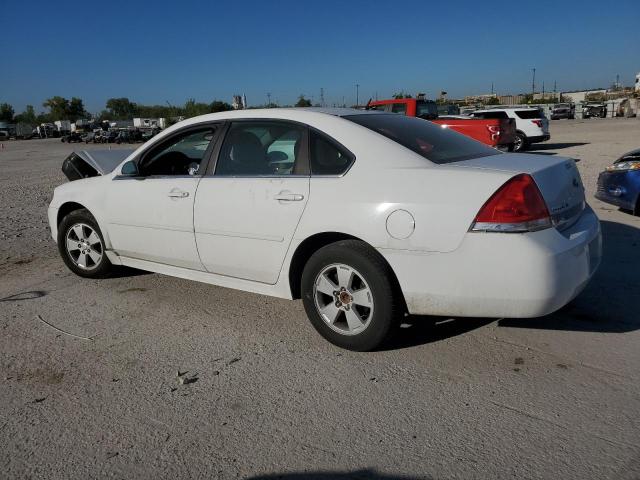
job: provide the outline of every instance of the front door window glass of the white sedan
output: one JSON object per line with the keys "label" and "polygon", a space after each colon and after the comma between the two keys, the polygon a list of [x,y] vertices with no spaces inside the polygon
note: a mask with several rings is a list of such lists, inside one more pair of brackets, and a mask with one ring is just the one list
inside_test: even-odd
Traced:
{"label": "front door window glass of the white sedan", "polygon": [[150,175],[197,175],[200,170],[215,127],[189,130],[173,136],[154,147],[138,166],[140,174]]}

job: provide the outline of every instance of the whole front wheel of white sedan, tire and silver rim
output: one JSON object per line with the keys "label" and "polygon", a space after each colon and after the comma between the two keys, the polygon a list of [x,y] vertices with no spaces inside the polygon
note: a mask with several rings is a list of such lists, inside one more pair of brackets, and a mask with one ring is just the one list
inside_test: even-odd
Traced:
{"label": "whole front wheel of white sedan, tire and silver rim", "polygon": [[58,250],[67,267],[81,277],[102,278],[113,270],[102,232],[88,210],[75,210],[62,219]]}

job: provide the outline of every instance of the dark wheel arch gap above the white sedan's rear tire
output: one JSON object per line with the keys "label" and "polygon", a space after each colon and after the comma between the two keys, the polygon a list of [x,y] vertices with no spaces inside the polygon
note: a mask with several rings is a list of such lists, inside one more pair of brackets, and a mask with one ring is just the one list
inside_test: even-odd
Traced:
{"label": "dark wheel arch gap above the white sedan's rear tire", "polygon": [[400,287],[400,282],[398,281],[398,277],[396,273],[393,271],[393,268],[389,264],[386,258],[382,254],[380,254],[370,243],[367,241],[355,237],[353,235],[349,235],[343,232],[321,232],[311,235],[304,239],[296,248],[293,256],[291,257],[291,262],[289,263],[289,287],[291,289],[291,297],[294,300],[302,298],[301,292],[301,283],[302,283],[302,272],[304,270],[304,266],[307,264],[311,255],[317,252],[322,247],[325,247],[331,243],[336,243],[341,240],[357,240],[369,248],[374,250],[380,258],[386,263],[389,268],[389,272],[391,273],[391,282],[394,286],[394,290],[398,295],[398,298],[401,299],[403,308],[406,311],[406,302],[404,299],[404,294],[402,293],[402,288]]}

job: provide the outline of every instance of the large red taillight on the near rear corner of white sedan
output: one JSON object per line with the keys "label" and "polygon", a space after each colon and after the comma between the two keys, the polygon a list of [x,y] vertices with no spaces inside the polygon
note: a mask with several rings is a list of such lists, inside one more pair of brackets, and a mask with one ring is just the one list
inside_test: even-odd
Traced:
{"label": "large red taillight on the near rear corner of white sedan", "polygon": [[521,173],[502,185],[482,206],[472,232],[533,232],[551,227],[549,210],[531,178]]}

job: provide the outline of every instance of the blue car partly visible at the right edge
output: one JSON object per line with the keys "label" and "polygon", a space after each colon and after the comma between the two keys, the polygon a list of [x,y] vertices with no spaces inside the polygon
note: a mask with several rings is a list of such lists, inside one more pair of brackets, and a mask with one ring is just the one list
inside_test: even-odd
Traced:
{"label": "blue car partly visible at the right edge", "polygon": [[600,173],[596,198],[640,215],[640,148]]}

